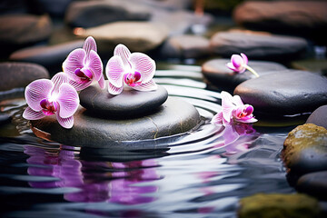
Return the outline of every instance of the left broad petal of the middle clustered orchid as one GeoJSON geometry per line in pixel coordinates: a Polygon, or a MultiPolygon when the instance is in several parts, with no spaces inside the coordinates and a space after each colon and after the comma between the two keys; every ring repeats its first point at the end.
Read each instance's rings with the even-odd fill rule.
{"type": "Polygon", "coordinates": [[[75,74],[77,68],[82,69],[84,67],[84,61],[86,52],[82,48],[76,48],[73,52],[68,54],[64,60],[63,69],[64,73],[67,74],[72,80],[80,81],[80,77],[75,74]]]}

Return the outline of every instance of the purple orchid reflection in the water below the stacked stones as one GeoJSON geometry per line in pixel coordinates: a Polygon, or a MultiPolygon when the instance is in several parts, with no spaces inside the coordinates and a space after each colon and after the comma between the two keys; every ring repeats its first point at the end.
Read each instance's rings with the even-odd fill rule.
{"type": "Polygon", "coordinates": [[[57,153],[41,147],[25,146],[26,160],[31,164],[28,173],[35,176],[52,176],[58,181],[30,182],[34,188],[75,187],[80,192],[64,193],[69,202],[108,202],[122,204],[150,203],[155,200],[144,194],[154,193],[154,185],[136,186],[136,183],[160,179],[155,172],[155,160],[139,160],[125,163],[88,162],[77,160],[74,147],[62,145],[57,153]],[[72,150],[64,150],[72,149],[72,150]]]}

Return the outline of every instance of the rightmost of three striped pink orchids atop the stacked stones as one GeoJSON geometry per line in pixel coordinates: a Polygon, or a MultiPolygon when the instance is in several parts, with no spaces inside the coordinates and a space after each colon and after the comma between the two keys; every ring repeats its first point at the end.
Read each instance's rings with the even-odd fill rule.
{"type": "Polygon", "coordinates": [[[148,55],[133,53],[125,45],[114,48],[114,56],[109,59],[105,74],[109,80],[110,94],[121,94],[124,84],[138,91],[153,91],[157,89],[153,77],[155,62],[148,55]]]}

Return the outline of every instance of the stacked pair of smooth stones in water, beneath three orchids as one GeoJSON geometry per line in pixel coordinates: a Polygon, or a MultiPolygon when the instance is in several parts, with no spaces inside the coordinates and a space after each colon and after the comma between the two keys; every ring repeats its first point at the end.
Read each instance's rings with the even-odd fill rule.
{"type": "MultiPolygon", "coordinates": [[[[119,146],[125,141],[182,134],[200,122],[200,115],[192,104],[168,98],[167,91],[160,85],[151,92],[125,89],[119,95],[91,85],[79,95],[83,107],[74,114],[72,129],[64,129],[53,115],[31,121],[35,134],[63,144],[104,148],[119,146]]],[[[144,149],[156,148],[154,143],[149,146],[144,149]]],[[[120,148],[129,149],[125,145],[120,148]]]]}

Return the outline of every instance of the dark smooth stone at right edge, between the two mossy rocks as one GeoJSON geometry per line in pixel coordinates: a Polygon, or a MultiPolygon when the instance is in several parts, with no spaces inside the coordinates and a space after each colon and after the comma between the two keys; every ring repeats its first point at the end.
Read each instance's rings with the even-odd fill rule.
{"type": "Polygon", "coordinates": [[[327,199],[327,171],[302,175],[295,188],[300,193],[308,193],[319,199],[327,199]]]}

